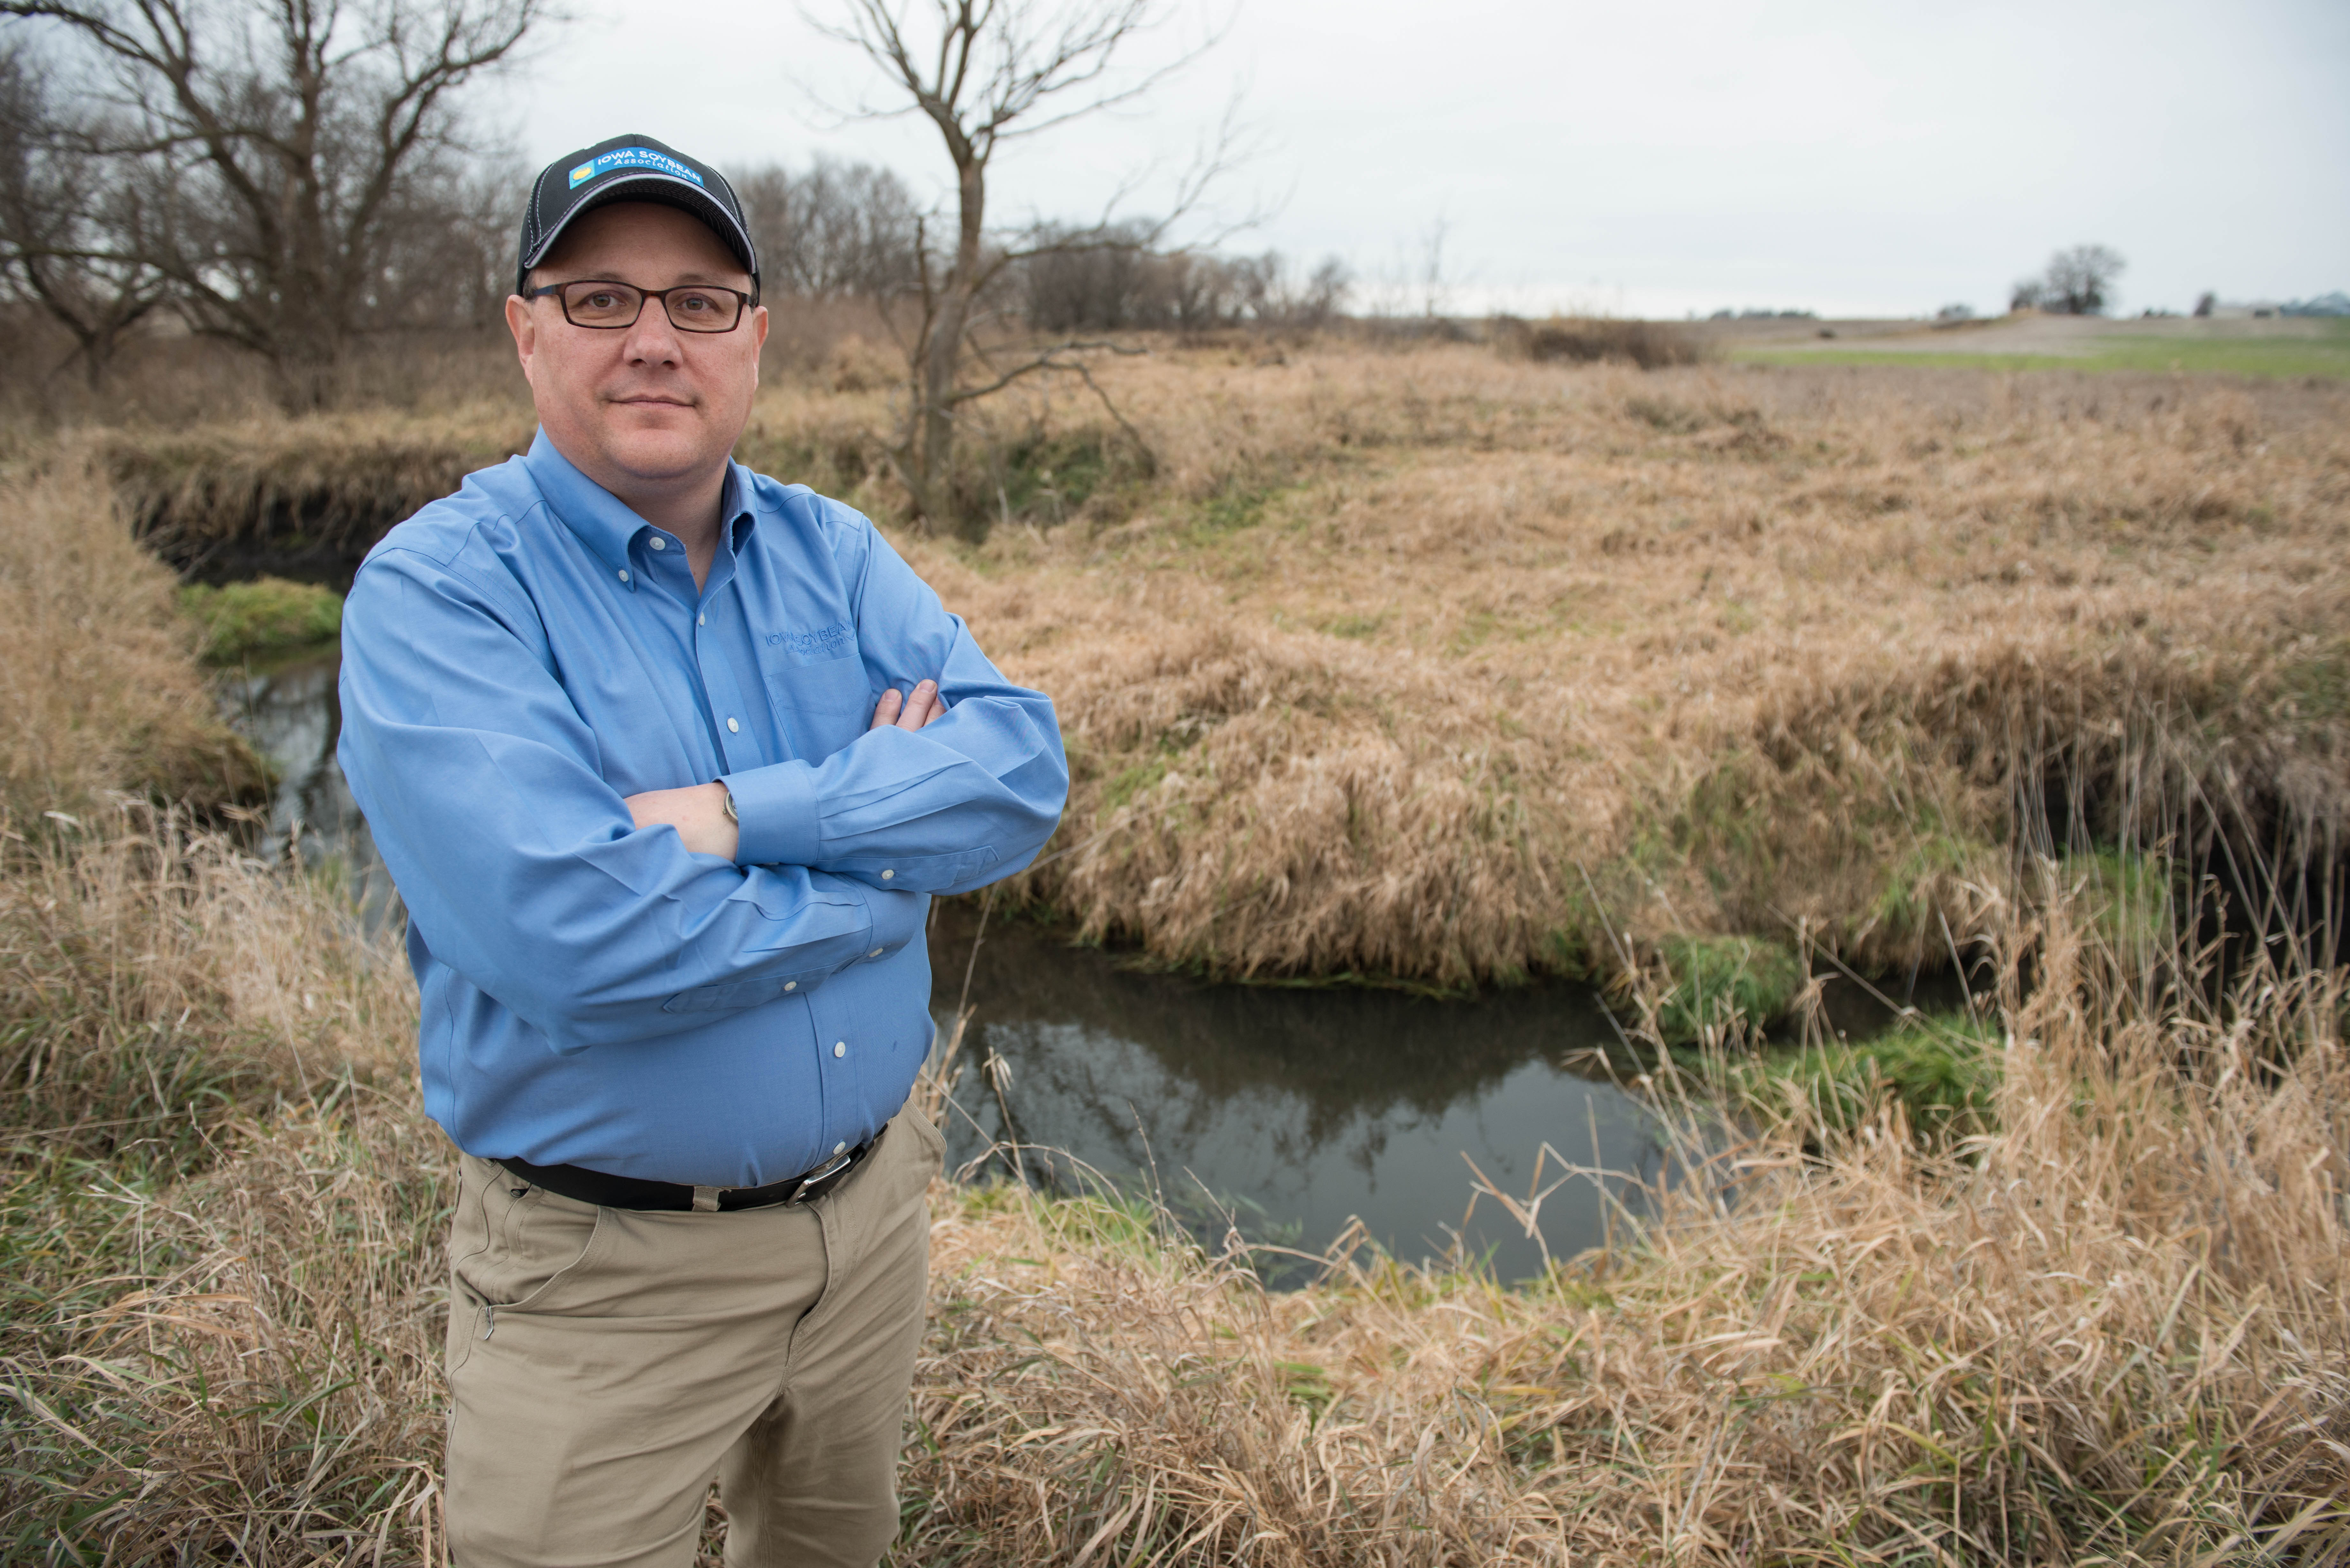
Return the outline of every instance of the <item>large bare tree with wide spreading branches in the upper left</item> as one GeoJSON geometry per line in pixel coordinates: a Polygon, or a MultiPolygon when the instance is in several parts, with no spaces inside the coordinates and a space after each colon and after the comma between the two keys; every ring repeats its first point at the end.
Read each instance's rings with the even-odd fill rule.
{"type": "Polygon", "coordinates": [[[442,247],[414,219],[470,148],[456,94],[508,59],[548,0],[0,0],[78,45],[120,122],[96,153],[139,167],[146,259],[197,331],[324,400],[350,341],[414,317],[442,247]]]}

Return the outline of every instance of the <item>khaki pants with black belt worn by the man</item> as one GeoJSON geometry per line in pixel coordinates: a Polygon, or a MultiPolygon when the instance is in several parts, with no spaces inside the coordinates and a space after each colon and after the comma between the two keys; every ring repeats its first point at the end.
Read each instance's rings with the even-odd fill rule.
{"type": "Polygon", "coordinates": [[[465,1157],[449,1227],[456,1568],[686,1568],[712,1476],[736,1568],[874,1563],[945,1143],[912,1105],[834,1192],[597,1208],[465,1157]]]}

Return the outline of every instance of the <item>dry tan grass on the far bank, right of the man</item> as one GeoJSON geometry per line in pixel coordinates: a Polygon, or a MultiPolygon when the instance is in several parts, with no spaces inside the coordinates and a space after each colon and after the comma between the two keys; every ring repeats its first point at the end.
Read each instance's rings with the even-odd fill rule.
{"type": "Polygon", "coordinates": [[[1060,703],[1065,853],[1025,886],[1093,936],[1464,983],[1607,966],[1596,896],[1633,936],[1805,922],[1908,964],[1936,917],[1967,938],[1950,889],[2049,736],[2153,715],[2251,792],[2350,799],[2338,390],[1114,374],[1161,494],[916,548],[1060,703]]]}

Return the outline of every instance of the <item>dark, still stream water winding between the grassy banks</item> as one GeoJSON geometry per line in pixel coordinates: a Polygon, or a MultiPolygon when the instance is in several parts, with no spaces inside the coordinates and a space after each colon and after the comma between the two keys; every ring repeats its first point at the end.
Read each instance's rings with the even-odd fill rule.
{"type": "MultiPolygon", "coordinates": [[[[280,769],[263,853],[341,865],[371,924],[400,903],[334,762],[336,654],[226,675],[223,705],[280,769]]],[[[1206,1244],[1227,1227],[1250,1244],[1318,1255],[1351,1225],[1405,1260],[1452,1248],[1502,1279],[1542,1272],[1605,1241],[1610,1215],[1638,1213],[1666,1168],[1654,1117],[1605,1072],[1614,1025],[1591,987],[1546,983],[1436,1001],[1391,990],[1213,985],[1147,973],[1055,933],[994,922],[973,898],[931,922],[933,1016],[942,1037],[964,1001],[949,1161],[1008,1166],[1032,1180],[1107,1180],[1154,1194],[1206,1244]],[[978,940],[978,947],[973,943],[978,940]],[[975,954],[975,957],[973,957],[975,954]],[[999,1058],[1001,1095],[985,1063],[999,1058]],[[1544,1147],[1549,1145],[1549,1154],[1544,1147]],[[1525,1197],[1572,1161],[1539,1208],[1539,1234],[1476,1175],[1525,1197]],[[1090,1173],[1090,1175],[1088,1175],[1090,1173]]],[[[1845,985],[1831,987],[1847,992],[1845,985]]],[[[1882,1020],[1838,1016],[1866,1032],[1882,1020]]],[[[1845,1013],[1849,1009],[1833,1009],[1845,1013]]],[[[1267,1272],[1311,1269],[1264,1255],[1267,1272]]]]}

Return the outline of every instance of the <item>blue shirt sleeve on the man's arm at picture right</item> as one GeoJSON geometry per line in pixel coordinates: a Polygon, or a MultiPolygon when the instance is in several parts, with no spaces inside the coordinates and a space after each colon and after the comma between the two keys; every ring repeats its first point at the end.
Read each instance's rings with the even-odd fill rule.
{"type": "Polygon", "coordinates": [[[947,712],[872,729],[820,762],[724,778],[745,865],[806,865],[867,889],[966,893],[1036,858],[1069,797],[1053,701],[1015,686],[961,616],[858,517],[858,646],[900,691],[935,679],[947,712]]]}

